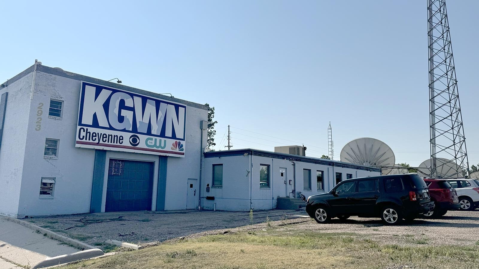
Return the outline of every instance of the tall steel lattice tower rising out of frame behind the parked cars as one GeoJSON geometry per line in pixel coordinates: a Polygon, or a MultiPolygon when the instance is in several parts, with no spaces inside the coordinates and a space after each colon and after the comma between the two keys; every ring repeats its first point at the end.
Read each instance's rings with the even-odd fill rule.
{"type": "Polygon", "coordinates": [[[468,154],[445,0],[428,0],[427,10],[431,176],[465,177],[469,170],[468,154]],[[439,157],[448,161],[436,161],[439,157]],[[443,175],[438,171],[448,172],[443,175]]]}

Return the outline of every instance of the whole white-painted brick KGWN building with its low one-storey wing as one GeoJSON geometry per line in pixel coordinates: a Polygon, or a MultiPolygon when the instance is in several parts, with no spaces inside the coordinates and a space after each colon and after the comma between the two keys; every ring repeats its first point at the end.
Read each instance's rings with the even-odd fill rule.
{"type": "Polygon", "coordinates": [[[202,158],[207,113],[202,104],[35,63],[0,85],[0,215],[181,210],[200,203],[262,210],[274,208],[278,196],[329,191],[338,175],[380,173],[252,149],[202,158]]]}

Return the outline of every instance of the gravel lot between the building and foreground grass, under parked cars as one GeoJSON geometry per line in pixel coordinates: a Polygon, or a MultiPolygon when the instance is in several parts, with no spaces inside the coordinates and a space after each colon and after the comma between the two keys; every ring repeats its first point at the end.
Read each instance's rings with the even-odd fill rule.
{"type": "Polygon", "coordinates": [[[116,239],[139,245],[156,245],[179,236],[197,237],[276,227],[279,230],[352,233],[381,244],[401,246],[478,244],[479,210],[449,211],[441,219],[416,219],[401,225],[383,225],[379,219],[357,218],[331,224],[317,224],[304,210],[247,212],[167,211],[115,212],[61,215],[33,218],[29,221],[59,234],[95,245],[116,239]],[[269,219],[270,222],[267,222],[269,219]],[[291,224],[291,225],[285,225],[291,224]],[[245,227],[239,227],[244,226],[245,227]],[[238,227],[238,228],[235,228],[238,227]]]}

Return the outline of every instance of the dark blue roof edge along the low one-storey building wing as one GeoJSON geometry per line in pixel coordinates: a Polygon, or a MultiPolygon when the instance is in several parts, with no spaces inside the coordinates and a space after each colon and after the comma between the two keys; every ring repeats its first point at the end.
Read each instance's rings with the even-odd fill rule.
{"type": "Polygon", "coordinates": [[[270,158],[285,159],[285,160],[287,159],[291,161],[301,161],[301,162],[322,164],[322,165],[335,166],[335,167],[381,172],[380,168],[371,167],[371,166],[363,166],[363,165],[345,163],[345,162],[340,162],[335,160],[321,159],[321,158],[315,158],[315,157],[305,157],[305,156],[299,156],[294,154],[286,154],[286,153],[265,151],[265,150],[252,149],[252,148],[209,151],[209,152],[205,152],[205,158],[241,156],[241,155],[244,156],[246,153],[252,156],[270,157],[270,158]]]}

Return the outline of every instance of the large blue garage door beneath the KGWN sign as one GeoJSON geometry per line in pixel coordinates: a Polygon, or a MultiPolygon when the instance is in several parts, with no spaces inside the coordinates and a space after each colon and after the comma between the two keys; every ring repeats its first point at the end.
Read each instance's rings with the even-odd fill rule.
{"type": "Polygon", "coordinates": [[[105,212],[151,210],[153,163],[110,160],[105,212]]]}

